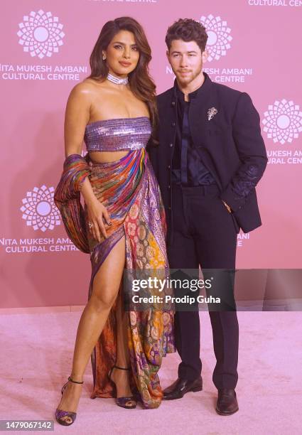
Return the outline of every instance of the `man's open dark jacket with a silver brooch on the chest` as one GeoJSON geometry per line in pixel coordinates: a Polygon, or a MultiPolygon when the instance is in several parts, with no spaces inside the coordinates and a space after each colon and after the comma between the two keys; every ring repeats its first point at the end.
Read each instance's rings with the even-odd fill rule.
{"type": "MultiPolygon", "coordinates": [[[[237,232],[261,225],[255,186],[267,164],[259,114],[246,92],[212,82],[206,74],[189,108],[190,131],[200,158],[220,188],[220,198],[232,208],[237,232]],[[217,110],[208,119],[208,110],[217,110]]],[[[171,168],[176,142],[176,82],[157,97],[158,145],[149,141],[148,151],[158,179],[171,233],[171,168]]]]}

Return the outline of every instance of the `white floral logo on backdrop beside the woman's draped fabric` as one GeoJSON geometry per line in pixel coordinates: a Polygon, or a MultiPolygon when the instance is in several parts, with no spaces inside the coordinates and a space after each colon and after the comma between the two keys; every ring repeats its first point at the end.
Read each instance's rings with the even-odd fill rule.
{"type": "Polygon", "coordinates": [[[22,219],[26,220],[26,225],[33,227],[33,230],[53,230],[55,225],[60,225],[60,213],[53,201],[55,188],[41,186],[33,188],[26,193],[26,198],[22,200],[23,213],[22,219]]]}

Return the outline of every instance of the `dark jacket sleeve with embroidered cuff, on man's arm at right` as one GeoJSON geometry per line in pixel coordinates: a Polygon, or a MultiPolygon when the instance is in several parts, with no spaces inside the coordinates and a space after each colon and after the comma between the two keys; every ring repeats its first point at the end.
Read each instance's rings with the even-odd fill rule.
{"type": "Polygon", "coordinates": [[[237,102],[232,131],[241,163],[220,198],[236,212],[244,207],[249,193],[259,182],[267,164],[260,117],[246,92],[242,92],[237,102]]]}

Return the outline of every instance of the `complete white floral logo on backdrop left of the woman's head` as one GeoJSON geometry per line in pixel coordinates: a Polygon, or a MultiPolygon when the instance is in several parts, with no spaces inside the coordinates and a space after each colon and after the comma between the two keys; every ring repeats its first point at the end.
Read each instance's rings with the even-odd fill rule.
{"type": "Polygon", "coordinates": [[[38,12],[32,11],[28,16],[23,16],[19,28],[18,43],[23,46],[23,51],[30,53],[32,57],[50,58],[53,53],[58,53],[60,45],[63,45],[63,24],[60,24],[58,16],[53,16],[51,12],[44,12],[42,9],[38,12]]]}

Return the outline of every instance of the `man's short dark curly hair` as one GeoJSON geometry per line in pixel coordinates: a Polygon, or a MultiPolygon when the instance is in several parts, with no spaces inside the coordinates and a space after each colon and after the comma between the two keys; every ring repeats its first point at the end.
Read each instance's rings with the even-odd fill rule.
{"type": "Polygon", "coordinates": [[[171,43],[175,39],[182,39],[185,42],[195,41],[203,53],[207,43],[207,33],[205,27],[198,21],[190,18],[180,18],[168,28],[165,39],[168,50],[170,50],[171,43]]]}

